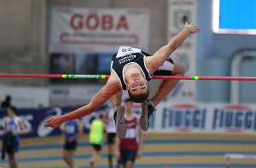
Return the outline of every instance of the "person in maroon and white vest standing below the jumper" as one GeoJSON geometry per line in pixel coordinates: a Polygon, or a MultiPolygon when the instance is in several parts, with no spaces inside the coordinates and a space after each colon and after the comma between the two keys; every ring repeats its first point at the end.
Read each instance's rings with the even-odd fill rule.
{"type": "Polygon", "coordinates": [[[130,98],[125,100],[126,137],[115,139],[116,157],[123,168],[132,168],[136,158],[140,158],[143,150],[143,132],[139,126],[138,116],[132,111],[133,102],[130,98]]]}

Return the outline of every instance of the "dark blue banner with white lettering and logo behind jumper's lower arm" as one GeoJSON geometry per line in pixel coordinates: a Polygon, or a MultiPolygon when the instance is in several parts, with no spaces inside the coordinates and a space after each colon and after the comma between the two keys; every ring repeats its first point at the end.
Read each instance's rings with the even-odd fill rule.
{"type": "MultiPolygon", "coordinates": [[[[100,113],[104,113],[107,105],[103,105],[96,112],[83,117],[80,120],[81,126],[84,129],[84,133],[90,131],[90,123],[96,119],[100,113]]],[[[57,128],[45,126],[45,120],[55,115],[64,115],[69,109],[78,109],[79,106],[67,106],[67,107],[50,107],[41,109],[18,109],[17,115],[23,120],[26,127],[26,134],[21,137],[48,137],[54,135],[61,135],[63,124],[57,128]]],[[[3,136],[4,120],[8,117],[6,109],[0,109],[0,137],[3,136]]]]}

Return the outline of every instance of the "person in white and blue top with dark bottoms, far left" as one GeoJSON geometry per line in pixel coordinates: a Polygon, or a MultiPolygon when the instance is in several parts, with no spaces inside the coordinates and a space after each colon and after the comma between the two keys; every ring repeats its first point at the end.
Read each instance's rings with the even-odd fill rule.
{"type": "Polygon", "coordinates": [[[3,135],[5,139],[5,148],[9,157],[9,167],[17,168],[17,152],[19,150],[20,134],[26,133],[23,121],[18,117],[17,109],[14,106],[8,108],[9,117],[4,120],[3,135]]]}

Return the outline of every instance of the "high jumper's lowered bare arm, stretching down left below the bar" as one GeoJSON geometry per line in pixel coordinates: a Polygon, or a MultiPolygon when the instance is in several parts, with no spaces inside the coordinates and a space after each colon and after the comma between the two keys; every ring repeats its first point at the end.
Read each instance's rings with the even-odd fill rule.
{"type": "Polygon", "coordinates": [[[90,104],[84,105],[67,115],[53,116],[49,120],[45,121],[45,125],[58,127],[67,120],[75,120],[83,117],[84,115],[90,115],[90,113],[98,109],[102,104],[108,101],[108,98],[120,90],[122,90],[122,88],[119,85],[118,79],[116,79],[116,76],[110,75],[107,84],[90,100],[90,104]]]}

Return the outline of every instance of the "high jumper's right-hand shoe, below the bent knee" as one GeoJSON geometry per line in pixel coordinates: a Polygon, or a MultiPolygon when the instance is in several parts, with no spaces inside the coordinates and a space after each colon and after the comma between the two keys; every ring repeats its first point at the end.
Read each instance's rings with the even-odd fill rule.
{"type": "Polygon", "coordinates": [[[143,131],[146,132],[148,131],[149,120],[154,114],[154,111],[156,111],[156,109],[154,109],[154,106],[153,106],[153,99],[147,99],[147,101],[143,102],[142,109],[143,109],[143,112],[140,118],[140,124],[143,131]]]}

